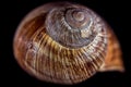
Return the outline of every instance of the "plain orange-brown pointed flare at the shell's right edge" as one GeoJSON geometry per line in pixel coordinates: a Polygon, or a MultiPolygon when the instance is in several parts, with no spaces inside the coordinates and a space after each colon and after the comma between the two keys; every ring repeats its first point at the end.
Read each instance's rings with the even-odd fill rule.
{"type": "Polygon", "coordinates": [[[119,71],[124,72],[124,66],[122,62],[122,52],[120,50],[119,41],[115,33],[108,27],[107,30],[108,36],[108,45],[107,45],[107,54],[105,58],[105,62],[102,65],[99,72],[108,72],[108,71],[119,71]]]}

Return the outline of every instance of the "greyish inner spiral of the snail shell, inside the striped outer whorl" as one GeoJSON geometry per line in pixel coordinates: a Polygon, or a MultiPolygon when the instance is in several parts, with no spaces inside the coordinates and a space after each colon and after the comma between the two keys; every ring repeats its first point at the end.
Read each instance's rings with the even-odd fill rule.
{"type": "Polygon", "coordinates": [[[56,8],[47,16],[47,33],[68,48],[81,48],[91,44],[100,29],[94,20],[93,12],[83,7],[56,8]]]}

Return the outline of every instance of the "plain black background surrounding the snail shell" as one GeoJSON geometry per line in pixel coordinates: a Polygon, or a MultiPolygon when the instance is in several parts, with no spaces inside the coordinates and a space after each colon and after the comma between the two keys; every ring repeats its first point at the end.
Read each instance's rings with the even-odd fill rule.
{"type": "MultiPolygon", "coordinates": [[[[4,0],[0,1],[0,84],[13,87],[130,87],[131,42],[129,2],[115,0],[70,0],[86,5],[98,13],[114,28],[120,41],[126,72],[97,73],[92,78],[72,86],[40,82],[25,73],[13,55],[13,37],[19,23],[33,9],[51,0],[4,0]]],[[[55,0],[53,0],[55,1],[55,0]]],[[[56,0],[59,1],[59,0],[56,0]]]]}

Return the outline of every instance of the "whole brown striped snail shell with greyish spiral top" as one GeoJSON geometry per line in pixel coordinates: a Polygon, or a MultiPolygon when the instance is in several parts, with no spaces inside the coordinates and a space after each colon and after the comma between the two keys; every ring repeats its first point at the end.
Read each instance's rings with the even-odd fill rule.
{"type": "Polygon", "coordinates": [[[91,9],[70,2],[44,4],[26,15],[13,48],[28,74],[57,84],[80,83],[99,71],[123,70],[111,28],[91,9]]]}

